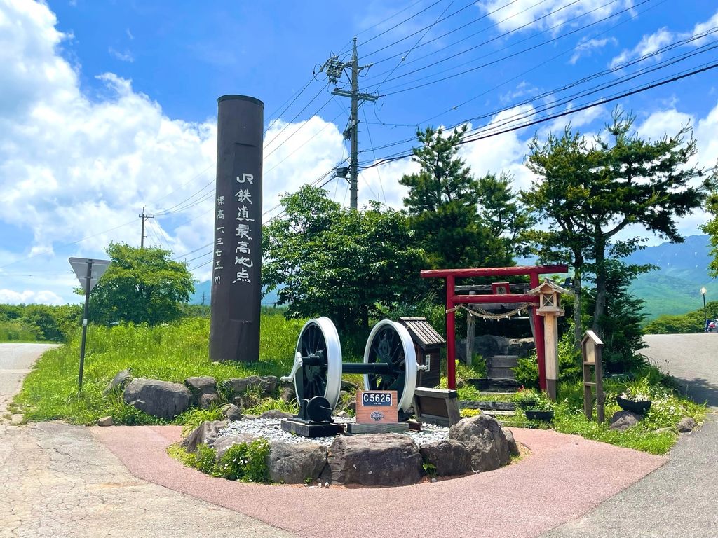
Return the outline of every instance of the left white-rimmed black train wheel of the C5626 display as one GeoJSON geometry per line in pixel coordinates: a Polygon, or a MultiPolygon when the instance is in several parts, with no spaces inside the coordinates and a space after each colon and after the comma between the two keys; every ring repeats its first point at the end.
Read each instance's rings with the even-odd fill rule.
{"type": "Polygon", "coordinates": [[[325,359],[317,366],[305,365],[294,374],[297,400],[323,396],[333,411],[342,388],[342,345],[332,320],[321,317],[307,321],[299,333],[296,351],[302,357],[320,355],[325,359]]]}

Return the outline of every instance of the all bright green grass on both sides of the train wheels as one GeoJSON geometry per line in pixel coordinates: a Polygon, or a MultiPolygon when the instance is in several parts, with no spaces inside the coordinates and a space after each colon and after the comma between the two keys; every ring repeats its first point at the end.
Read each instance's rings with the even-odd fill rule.
{"type": "MultiPolygon", "coordinates": [[[[37,361],[11,405],[14,412],[23,413],[26,421],[59,419],[76,424],[94,424],[99,417],[111,415],[116,424],[163,423],[161,419],[125,405],[121,394],[103,397],[103,390],[117,372],[129,368],[134,377],[179,383],[187,377],[202,375],[212,376],[218,382],[251,374],[286,375],[292,369],[294,348],[303,324],[304,320],[286,320],[279,313],[263,313],[259,362],[252,364],[210,362],[209,321],[205,318],[185,318],[174,324],[155,327],[90,326],[83,391],[78,392],[80,343],[75,336],[69,344],[47,351],[37,361]]],[[[356,337],[354,340],[359,342],[360,339],[356,337]]],[[[344,341],[342,339],[342,344],[344,341]]],[[[356,351],[345,352],[345,360],[357,360],[356,355],[356,351]]],[[[458,365],[458,372],[465,377],[475,377],[476,373],[461,364],[458,365]]],[[[345,376],[344,379],[361,383],[359,375],[345,376]]],[[[559,385],[559,401],[554,405],[556,415],[551,425],[528,421],[521,411],[514,417],[502,417],[501,420],[505,425],[517,427],[552,427],[562,433],[574,433],[656,454],[666,453],[675,443],[677,435],[672,428],[681,417],[691,416],[699,422],[703,420],[706,407],[679,397],[664,387],[657,369],[647,367],[643,372],[636,372],[633,379],[635,381],[605,381],[607,420],[618,410],[615,397],[623,390],[640,384],[643,392],[651,393],[651,411],[627,432],[615,432],[606,424],[598,425],[584,417],[580,382],[559,385]]],[[[468,384],[460,388],[459,397],[461,400],[495,399],[468,384]]],[[[282,402],[277,400],[276,403],[282,402]]],[[[265,407],[271,404],[263,403],[265,407]]],[[[173,422],[192,425],[217,414],[218,410],[189,410],[173,422]]]]}

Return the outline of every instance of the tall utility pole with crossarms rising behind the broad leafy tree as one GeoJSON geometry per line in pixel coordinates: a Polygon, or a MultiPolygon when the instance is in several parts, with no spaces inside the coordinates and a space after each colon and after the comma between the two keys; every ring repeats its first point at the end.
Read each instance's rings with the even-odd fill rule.
{"type": "Polygon", "coordinates": [[[358,168],[359,168],[359,101],[376,101],[379,96],[371,95],[369,93],[359,93],[359,73],[371,67],[372,64],[359,65],[359,58],[357,55],[357,38],[354,38],[354,47],[352,52],[352,59],[348,62],[341,62],[339,57],[332,56],[322,65],[322,70],[327,70],[327,77],[330,82],[336,84],[345,72],[345,69],[349,68],[350,75],[349,79],[351,82],[351,91],[340,90],[334,88],[332,95],[339,95],[340,97],[348,97],[352,100],[349,126],[344,131],[344,139],[351,138],[351,151],[349,156],[349,189],[350,189],[350,207],[351,209],[357,209],[357,197],[358,197],[358,168]]]}

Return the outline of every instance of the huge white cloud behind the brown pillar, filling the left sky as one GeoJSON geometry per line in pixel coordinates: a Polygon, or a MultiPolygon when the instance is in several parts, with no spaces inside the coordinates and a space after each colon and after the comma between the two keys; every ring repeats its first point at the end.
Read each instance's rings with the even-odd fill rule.
{"type": "MultiPolygon", "coordinates": [[[[12,225],[29,236],[22,250],[0,253],[0,268],[10,264],[18,273],[14,269],[41,263],[62,275],[67,255],[104,257],[110,241],[139,245],[143,206],[157,214],[147,232],[150,245],[162,241],[181,255],[211,243],[215,118],[169,118],[131,80],[113,73],[85,74],[104,84],[100,95],[88,98],[80,90],[81,67],[58,52],[67,36],[56,24],[47,4],[0,2],[0,233],[12,225]],[[190,202],[196,204],[162,214],[195,192],[190,202]]],[[[284,126],[277,122],[266,139],[284,126]]],[[[278,141],[284,143],[264,162],[265,210],[342,156],[337,126],[318,117],[289,126],[278,141]]],[[[195,276],[206,277],[204,269],[195,276]]],[[[8,301],[75,301],[73,285],[69,277],[4,277],[4,286],[21,294],[8,301]],[[27,296],[27,289],[54,295],[27,296]]]]}

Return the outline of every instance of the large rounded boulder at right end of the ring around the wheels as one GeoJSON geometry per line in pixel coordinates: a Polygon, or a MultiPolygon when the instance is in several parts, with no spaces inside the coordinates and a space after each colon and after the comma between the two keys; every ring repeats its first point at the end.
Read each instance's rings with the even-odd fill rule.
{"type": "Polygon", "coordinates": [[[456,439],[471,453],[474,471],[494,471],[510,461],[508,440],[498,420],[489,415],[464,418],[449,428],[449,439],[456,439]]]}

